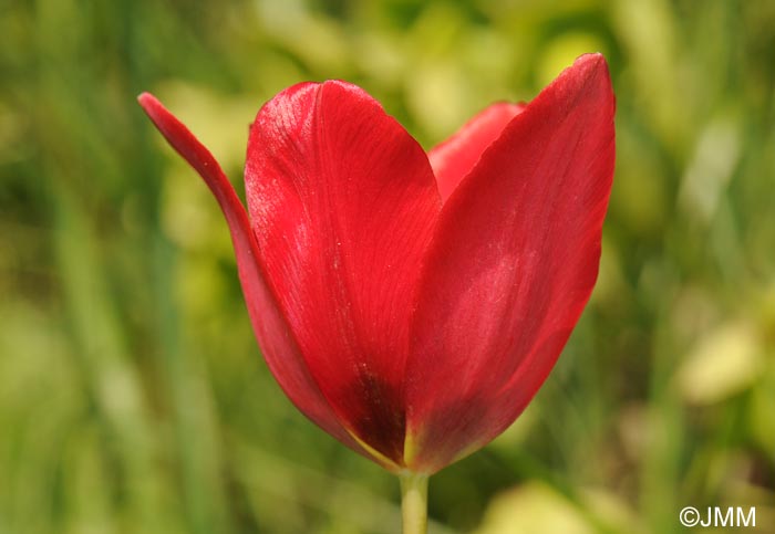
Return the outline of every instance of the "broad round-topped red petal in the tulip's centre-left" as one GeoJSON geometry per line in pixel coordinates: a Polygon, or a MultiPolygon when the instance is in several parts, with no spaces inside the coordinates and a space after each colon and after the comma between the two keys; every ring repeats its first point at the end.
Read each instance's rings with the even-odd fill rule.
{"type": "Polygon", "coordinates": [[[307,83],[258,113],[245,179],[310,373],[359,442],[402,464],[411,295],[441,209],[427,157],[363,90],[307,83]]]}

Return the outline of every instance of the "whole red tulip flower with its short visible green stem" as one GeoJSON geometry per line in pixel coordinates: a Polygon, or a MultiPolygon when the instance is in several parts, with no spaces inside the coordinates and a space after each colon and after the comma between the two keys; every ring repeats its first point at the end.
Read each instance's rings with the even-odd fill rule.
{"type": "Polygon", "coordinates": [[[614,157],[606,61],[580,56],[428,153],[363,90],[294,85],[250,126],[247,211],[194,135],[138,100],[220,205],[272,375],[401,477],[405,532],[424,532],[427,477],[519,416],[595,285],[614,157]]]}

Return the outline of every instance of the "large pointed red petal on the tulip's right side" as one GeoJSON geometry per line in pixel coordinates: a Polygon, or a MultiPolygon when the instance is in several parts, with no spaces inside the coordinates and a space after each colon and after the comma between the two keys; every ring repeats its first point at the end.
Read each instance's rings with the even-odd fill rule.
{"type": "Polygon", "coordinates": [[[604,60],[579,57],[444,205],[411,328],[410,469],[483,447],[551,370],[597,279],[613,113],[604,60]]]}

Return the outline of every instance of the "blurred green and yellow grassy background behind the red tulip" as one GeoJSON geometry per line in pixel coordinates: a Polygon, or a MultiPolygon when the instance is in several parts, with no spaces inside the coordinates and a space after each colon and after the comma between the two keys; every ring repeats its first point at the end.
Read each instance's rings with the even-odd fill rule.
{"type": "Polygon", "coordinates": [[[618,97],[600,280],[525,415],[432,479],[432,532],[679,532],[685,505],[775,532],[775,2],[3,0],[0,534],[399,530],[393,477],[268,373],[138,93],[241,193],[288,85],[358,83],[430,147],[590,51],[618,97]]]}

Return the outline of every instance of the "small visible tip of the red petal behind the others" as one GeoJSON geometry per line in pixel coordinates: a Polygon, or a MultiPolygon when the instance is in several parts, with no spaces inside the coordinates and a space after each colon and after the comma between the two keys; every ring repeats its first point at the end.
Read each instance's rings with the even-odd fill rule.
{"type": "Polygon", "coordinates": [[[444,202],[461,180],[471,172],[485,148],[498,138],[506,125],[524,108],[521,104],[493,104],[468,121],[452,137],[431,149],[427,157],[444,202]]]}

